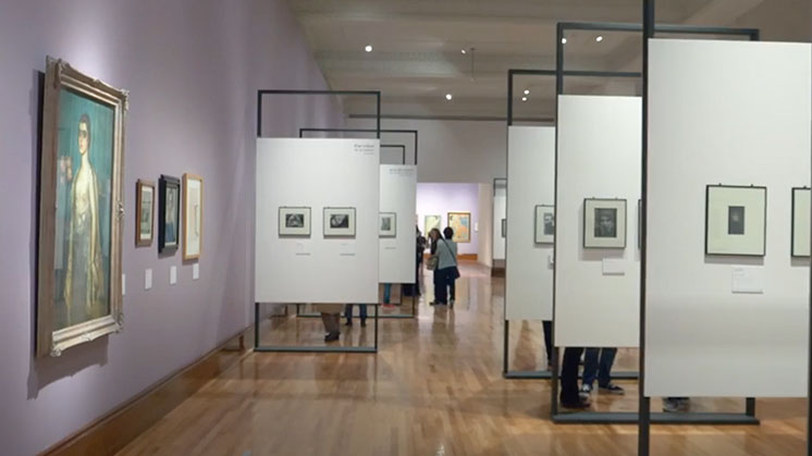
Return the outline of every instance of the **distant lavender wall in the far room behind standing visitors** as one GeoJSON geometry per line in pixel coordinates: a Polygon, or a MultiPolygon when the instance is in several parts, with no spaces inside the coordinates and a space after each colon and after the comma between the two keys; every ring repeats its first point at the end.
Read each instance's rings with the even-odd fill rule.
{"type": "Polygon", "coordinates": [[[417,184],[417,220],[420,231],[425,230],[426,215],[442,215],[442,229],[448,225],[448,212],[471,213],[471,242],[459,244],[457,248],[459,254],[479,254],[480,233],[477,233],[473,230],[475,224],[479,222],[481,232],[483,223],[479,218],[479,185],[443,183],[417,184]]]}

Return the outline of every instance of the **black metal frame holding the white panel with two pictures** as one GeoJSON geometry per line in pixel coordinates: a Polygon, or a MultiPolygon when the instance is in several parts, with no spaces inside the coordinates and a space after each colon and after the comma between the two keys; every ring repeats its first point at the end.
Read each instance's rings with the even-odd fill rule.
{"type": "MultiPolygon", "coordinates": [[[[262,137],[262,97],[264,96],[276,96],[276,95],[317,95],[317,96],[340,96],[340,95],[356,95],[376,97],[376,128],[368,130],[369,133],[374,133],[376,138],[381,138],[381,93],[380,90],[299,90],[299,89],[260,89],[257,90],[257,138],[262,137]]],[[[310,128],[316,130],[316,128],[310,128]]],[[[336,128],[319,128],[323,131],[334,131],[336,128]]],[[[303,128],[299,130],[299,137],[302,137],[303,128]]],[[[297,353],[378,353],[378,320],[379,309],[378,303],[355,303],[366,304],[368,306],[374,306],[374,347],[344,347],[344,346],[260,346],[259,345],[259,306],[263,303],[254,303],[254,350],[255,352],[297,352],[297,353]]],[[[286,303],[267,303],[275,305],[285,305],[286,303]]],[[[293,303],[291,303],[293,304],[293,303]]],[[[295,304],[298,310],[299,304],[295,304]]],[[[287,310],[285,310],[287,313],[287,310]]],[[[298,311],[297,311],[298,315],[298,311]]],[[[309,317],[318,317],[318,313],[310,315],[309,317]]]]}

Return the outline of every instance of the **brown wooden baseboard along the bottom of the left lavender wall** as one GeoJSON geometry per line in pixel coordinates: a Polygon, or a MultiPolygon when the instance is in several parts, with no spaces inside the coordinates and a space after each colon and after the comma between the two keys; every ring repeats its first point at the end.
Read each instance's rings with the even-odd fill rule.
{"type": "Polygon", "coordinates": [[[46,449],[47,456],[112,455],[157,423],[202,385],[234,366],[249,352],[244,341],[254,325],[229,337],[197,361],[180,369],[111,412],[46,449]],[[229,348],[239,344],[239,348],[229,348]]]}

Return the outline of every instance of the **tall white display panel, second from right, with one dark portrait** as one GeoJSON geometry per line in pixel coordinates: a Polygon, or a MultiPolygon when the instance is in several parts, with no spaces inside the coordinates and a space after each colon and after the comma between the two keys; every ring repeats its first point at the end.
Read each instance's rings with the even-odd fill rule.
{"type": "Polygon", "coordinates": [[[640,345],[641,112],[639,97],[558,97],[556,346],[640,345]],[[583,247],[586,198],[626,200],[626,247],[583,247]]]}

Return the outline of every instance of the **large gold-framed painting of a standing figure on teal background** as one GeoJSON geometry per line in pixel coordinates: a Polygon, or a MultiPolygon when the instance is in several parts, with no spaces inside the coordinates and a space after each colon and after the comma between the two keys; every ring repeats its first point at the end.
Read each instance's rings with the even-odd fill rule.
{"type": "Polygon", "coordinates": [[[36,354],[121,330],[127,93],[48,58],[42,106],[36,354]]]}

